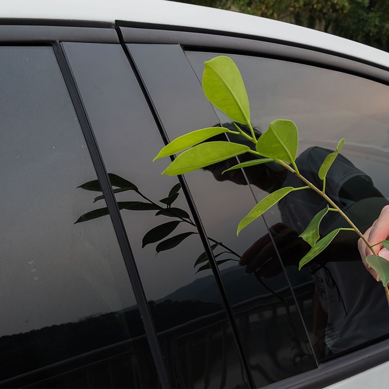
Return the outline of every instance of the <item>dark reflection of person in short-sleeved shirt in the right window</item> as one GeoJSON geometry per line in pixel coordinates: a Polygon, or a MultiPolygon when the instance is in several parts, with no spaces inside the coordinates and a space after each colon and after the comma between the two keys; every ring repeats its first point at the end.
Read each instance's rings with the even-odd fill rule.
{"type": "MultiPolygon", "coordinates": [[[[331,152],[322,147],[311,147],[296,159],[302,176],[318,188],[322,185],[318,170],[331,152]]],[[[240,162],[253,158],[252,155],[239,157],[240,162]]],[[[245,185],[246,179],[239,170],[221,175],[234,164],[236,159],[219,162],[207,170],[218,180],[228,179],[245,185]]],[[[245,174],[252,185],[268,193],[286,186],[304,185],[300,178],[280,169],[275,162],[245,168],[245,174]]],[[[388,204],[387,199],[374,187],[371,178],[342,155],[337,156],[328,172],[326,193],[362,230],[366,230],[382,207],[388,204]]],[[[326,201],[312,190],[292,192],[279,202],[283,223],[272,226],[270,232],[284,266],[298,265],[309,250],[310,247],[299,238],[299,234],[325,206],[326,201]]],[[[338,227],[349,226],[336,212],[330,212],[322,220],[320,234],[323,236],[338,227]]],[[[383,324],[389,319],[388,309],[385,310],[385,295],[382,287],[371,280],[360,262],[357,240],[355,233],[340,231],[333,243],[310,264],[316,292],[327,316],[321,328],[318,328],[325,336],[327,354],[350,349],[387,333],[383,324]],[[375,326],[374,329],[372,326],[375,326]],[[366,331],[366,327],[371,331],[366,331]]],[[[245,266],[247,273],[255,272],[264,277],[272,277],[282,271],[269,235],[248,248],[240,264],[245,266]]]]}

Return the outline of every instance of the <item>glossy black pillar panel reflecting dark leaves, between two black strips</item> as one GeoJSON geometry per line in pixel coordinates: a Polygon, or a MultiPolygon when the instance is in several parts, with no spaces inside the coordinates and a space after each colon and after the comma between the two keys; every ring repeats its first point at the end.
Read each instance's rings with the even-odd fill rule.
{"type": "Polygon", "coordinates": [[[165,162],[152,162],[163,142],[122,48],[79,43],[64,47],[107,171],[137,186],[137,191],[116,196],[119,204],[142,203],[121,214],[172,386],[246,387],[212,272],[197,273],[194,267],[204,248],[177,177],[161,177],[165,162]],[[178,196],[171,196],[166,209],[175,186],[178,196]],[[160,210],[165,215],[157,215],[160,210]],[[170,224],[154,242],[144,245],[146,233],[165,223],[170,224]],[[177,246],[178,241],[170,241],[157,254],[161,242],[185,233],[191,234],[181,235],[186,239],[177,246]]]}

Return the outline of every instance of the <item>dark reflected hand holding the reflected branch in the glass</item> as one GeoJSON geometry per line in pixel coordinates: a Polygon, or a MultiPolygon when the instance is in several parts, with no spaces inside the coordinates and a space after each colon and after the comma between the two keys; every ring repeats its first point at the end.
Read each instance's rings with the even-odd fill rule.
{"type": "MultiPolygon", "coordinates": [[[[298,265],[310,246],[299,238],[299,234],[295,230],[283,223],[277,223],[270,227],[270,231],[283,259],[283,265],[298,265]]],[[[246,273],[256,272],[265,278],[274,277],[282,271],[282,265],[268,233],[248,248],[242,255],[239,265],[246,266],[246,273]]]]}

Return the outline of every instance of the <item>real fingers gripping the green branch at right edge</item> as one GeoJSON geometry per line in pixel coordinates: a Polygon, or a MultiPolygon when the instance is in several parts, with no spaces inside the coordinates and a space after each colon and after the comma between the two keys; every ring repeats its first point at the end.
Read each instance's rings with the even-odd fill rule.
{"type": "MultiPolygon", "coordinates": [[[[372,226],[364,233],[365,238],[371,245],[374,245],[383,240],[387,240],[389,237],[389,205],[385,206],[378,219],[374,221],[372,226]]],[[[376,281],[379,281],[379,277],[374,269],[372,269],[366,262],[365,258],[371,255],[370,248],[362,240],[358,240],[358,249],[361,254],[362,262],[365,265],[369,273],[374,277],[376,281]]],[[[374,246],[375,253],[389,261],[389,251],[381,245],[374,246]]]]}

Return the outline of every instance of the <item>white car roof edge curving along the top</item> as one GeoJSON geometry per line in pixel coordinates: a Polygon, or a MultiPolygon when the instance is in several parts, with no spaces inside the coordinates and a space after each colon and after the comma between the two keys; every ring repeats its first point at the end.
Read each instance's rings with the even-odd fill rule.
{"type": "Polygon", "coordinates": [[[0,18],[144,22],[251,35],[339,53],[389,68],[389,53],[276,20],[167,0],[12,0],[0,18]]]}

